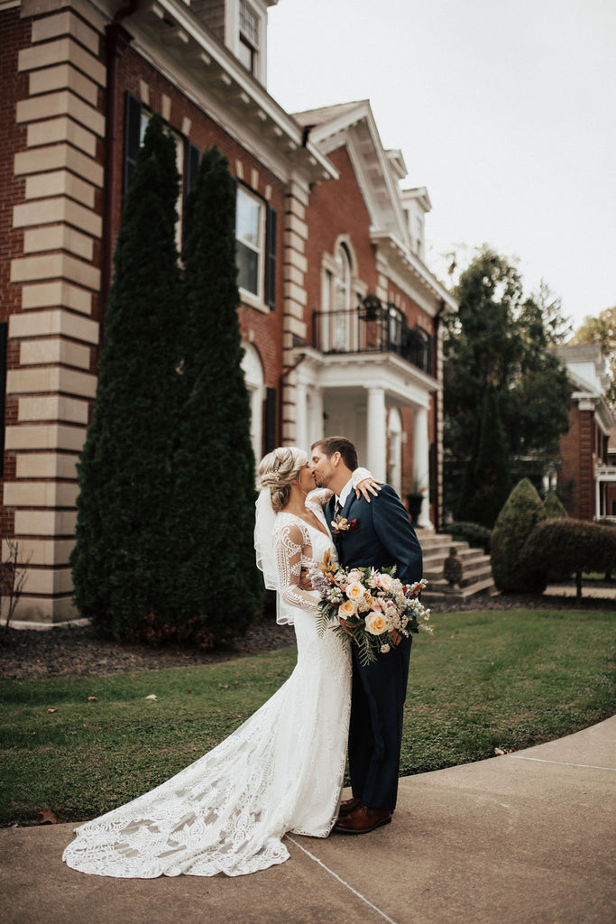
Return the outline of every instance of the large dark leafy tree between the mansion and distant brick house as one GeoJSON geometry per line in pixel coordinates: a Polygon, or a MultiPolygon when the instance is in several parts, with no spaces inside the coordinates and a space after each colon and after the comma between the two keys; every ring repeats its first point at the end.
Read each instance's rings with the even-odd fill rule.
{"type": "Polygon", "coordinates": [[[478,488],[483,396],[489,389],[498,395],[510,465],[529,458],[546,465],[569,428],[571,384],[550,351],[562,337],[562,319],[558,299],[549,298],[545,286],[537,298],[526,298],[512,263],[484,248],[460,275],[455,292],[460,307],[445,322],[443,345],[443,443],[445,506],[461,515],[461,494],[468,499],[478,488]],[[469,445],[472,465],[466,466],[463,486],[456,471],[468,461],[469,445]]]}

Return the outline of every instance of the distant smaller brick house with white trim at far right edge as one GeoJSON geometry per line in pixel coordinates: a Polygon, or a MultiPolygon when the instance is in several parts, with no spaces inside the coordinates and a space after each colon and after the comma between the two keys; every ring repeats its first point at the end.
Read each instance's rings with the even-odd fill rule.
{"type": "Polygon", "coordinates": [[[565,505],[577,519],[616,517],[616,420],[606,402],[605,357],[597,345],[558,346],[555,352],[574,388],[558,475],[565,505]]]}

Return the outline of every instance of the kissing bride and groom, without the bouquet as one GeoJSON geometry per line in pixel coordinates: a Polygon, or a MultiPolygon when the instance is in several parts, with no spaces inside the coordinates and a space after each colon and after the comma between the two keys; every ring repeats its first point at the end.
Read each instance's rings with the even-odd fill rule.
{"type": "Polygon", "coordinates": [[[255,549],[277,622],[293,625],[292,675],[247,722],[185,770],[76,829],[63,859],[99,876],[242,876],[289,857],[285,833],[361,834],[392,821],[411,638],[362,665],[356,645],[317,628],[308,571],[396,565],[421,578],[421,548],[405,506],[358,468],[342,436],[311,457],[274,449],[259,466],[255,549]],[[353,524],[353,529],[348,528],[353,524]],[[338,526],[347,529],[338,529],[338,526]],[[348,748],[353,796],[341,803],[348,748]]]}

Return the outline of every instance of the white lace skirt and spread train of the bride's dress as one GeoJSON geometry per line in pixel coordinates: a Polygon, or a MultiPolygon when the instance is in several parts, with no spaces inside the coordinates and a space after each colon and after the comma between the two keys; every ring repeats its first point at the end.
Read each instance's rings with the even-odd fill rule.
{"type": "MultiPolygon", "coordinates": [[[[324,537],[323,537],[324,538],[324,537]]],[[[284,833],[327,837],[344,780],[350,652],[296,609],[297,664],[271,699],[172,779],[76,830],[63,859],[99,876],[242,876],[283,863],[284,833]]]]}

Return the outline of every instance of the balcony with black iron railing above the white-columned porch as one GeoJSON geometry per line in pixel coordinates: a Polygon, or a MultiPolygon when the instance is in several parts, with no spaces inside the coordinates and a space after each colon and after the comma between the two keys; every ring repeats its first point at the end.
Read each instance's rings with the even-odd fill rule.
{"type": "Polygon", "coordinates": [[[394,353],[434,375],[433,337],[418,326],[409,327],[403,311],[375,296],[355,310],[314,311],[312,346],[327,355],[394,353]]]}

